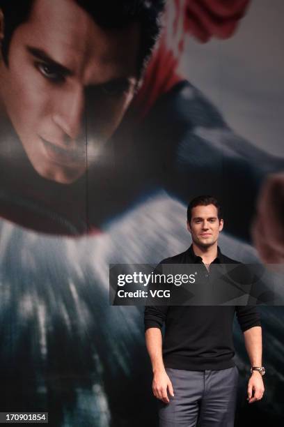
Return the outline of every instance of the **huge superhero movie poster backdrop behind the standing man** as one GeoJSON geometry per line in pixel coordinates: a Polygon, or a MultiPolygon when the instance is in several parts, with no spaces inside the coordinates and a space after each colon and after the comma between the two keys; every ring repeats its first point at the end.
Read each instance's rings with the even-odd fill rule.
{"type": "MultiPolygon", "coordinates": [[[[284,4],[168,1],[142,73],[162,3],[0,1],[1,412],[157,425],[143,310],[109,305],[109,264],[185,250],[191,197],[219,198],[226,255],[283,263],[284,4]]],[[[283,308],[260,312],[253,405],[234,325],[236,426],[283,425],[283,308]]]]}

